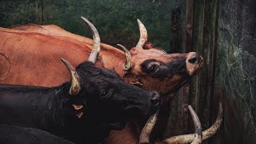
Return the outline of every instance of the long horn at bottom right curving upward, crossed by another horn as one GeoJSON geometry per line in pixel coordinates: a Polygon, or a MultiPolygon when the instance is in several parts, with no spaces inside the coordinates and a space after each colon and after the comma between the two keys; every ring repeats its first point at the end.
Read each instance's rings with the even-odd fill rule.
{"type": "MultiPolygon", "coordinates": [[[[218,117],[216,118],[214,124],[210,126],[209,129],[204,130],[202,132],[202,140],[206,140],[207,138],[212,137],[218,130],[218,128],[222,125],[222,116],[223,116],[223,109],[222,103],[219,103],[218,108],[218,117]]],[[[174,137],[167,138],[165,142],[167,143],[190,143],[194,140],[194,134],[185,134],[185,135],[178,135],[174,137]]]]}

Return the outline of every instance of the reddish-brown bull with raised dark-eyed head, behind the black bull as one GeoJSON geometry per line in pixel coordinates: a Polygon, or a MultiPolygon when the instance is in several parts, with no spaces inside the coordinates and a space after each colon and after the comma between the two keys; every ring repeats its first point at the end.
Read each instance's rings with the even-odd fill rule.
{"type": "MultiPolygon", "coordinates": [[[[122,50],[101,44],[98,66],[115,70],[126,82],[161,94],[178,90],[201,69],[202,57],[199,54],[166,54],[145,45],[146,28],[140,21],[138,24],[141,38],[137,46],[130,53],[126,51],[125,57],[122,50]]],[[[15,26],[12,30],[0,28],[0,38],[0,83],[20,85],[58,86],[66,82],[70,75],[62,72],[66,68],[59,59],[65,58],[73,66],[78,66],[89,57],[93,46],[90,38],[53,25],[15,26]]],[[[136,131],[134,124],[129,123],[126,129],[114,132],[125,134],[127,141],[120,134],[110,134],[109,142],[118,143],[117,138],[122,138],[122,142],[138,142],[136,131]]]]}

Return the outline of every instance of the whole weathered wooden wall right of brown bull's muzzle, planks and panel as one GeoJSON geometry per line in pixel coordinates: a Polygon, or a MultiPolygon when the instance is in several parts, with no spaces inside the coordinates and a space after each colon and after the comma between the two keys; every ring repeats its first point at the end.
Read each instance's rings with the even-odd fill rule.
{"type": "MultiPolygon", "coordinates": [[[[256,143],[255,7],[256,2],[249,0],[194,1],[192,50],[203,55],[205,66],[190,84],[189,103],[198,113],[203,129],[214,122],[218,102],[224,106],[222,127],[204,143],[256,143]]],[[[182,97],[174,99],[173,106],[181,106],[182,97]]],[[[170,118],[170,122],[182,122],[182,114],[179,111],[171,115],[176,119],[170,118]]],[[[188,118],[186,133],[194,130],[188,118]]],[[[170,134],[179,134],[180,130],[174,129],[170,134]]]]}

